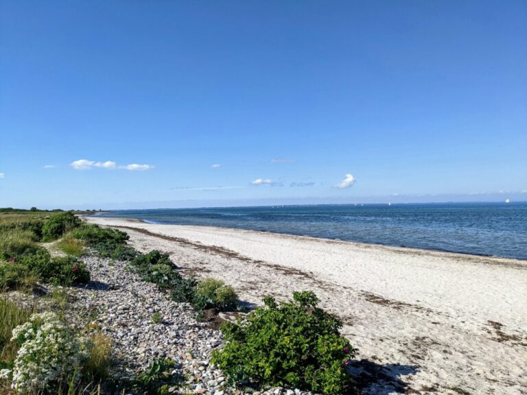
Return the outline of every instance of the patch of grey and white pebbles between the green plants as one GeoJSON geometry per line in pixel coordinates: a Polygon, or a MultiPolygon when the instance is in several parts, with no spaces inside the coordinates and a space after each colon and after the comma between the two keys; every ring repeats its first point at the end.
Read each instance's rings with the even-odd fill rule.
{"type": "Polygon", "coordinates": [[[156,285],[141,280],[126,262],[95,256],[83,261],[91,282],[74,289],[69,311],[89,317],[89,326],[113,339],[113,374],[118,381],[132,381],[153,359],[166,357],[176,362],[172,374],[183,377],[180,385],[169,388],[174,394],[312,394],[281,387],[265,391],[230,387],[222,371],[211,364],[211,352],[222,345],[222,333],[196,320],[189,304],[173,302],[156,285]],[[161,315],[161,322],[152,322],[155,313],[161,315]]]}

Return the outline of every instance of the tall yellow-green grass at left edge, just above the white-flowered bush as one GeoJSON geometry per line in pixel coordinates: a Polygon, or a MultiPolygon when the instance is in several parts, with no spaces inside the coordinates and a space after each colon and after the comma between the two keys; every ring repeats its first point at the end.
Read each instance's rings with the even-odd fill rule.
{"type": "Polygon", "coordinates": [[[10,363],[16,357],[18,346],[11,342],[16,326],[29,320],[31,311],[21,309],[14,302],[0,298],[0,365],[10,363]]]}

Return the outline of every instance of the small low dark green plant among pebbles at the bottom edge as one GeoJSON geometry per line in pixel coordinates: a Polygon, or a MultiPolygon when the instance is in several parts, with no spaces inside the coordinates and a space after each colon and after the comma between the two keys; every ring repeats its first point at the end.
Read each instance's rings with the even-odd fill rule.
{"type": "Polygon", "coordinates": [[[137,375],[133,389],[139,394],[165,395],[168,387],[180,383],[183,376],[173,374],[176,363],[171,359],[154,359],[150,366],[137,375]]]}

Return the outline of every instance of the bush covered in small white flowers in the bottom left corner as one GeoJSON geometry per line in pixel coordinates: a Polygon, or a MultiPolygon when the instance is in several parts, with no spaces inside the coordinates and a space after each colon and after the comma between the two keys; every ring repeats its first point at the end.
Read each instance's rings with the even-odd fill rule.
{"type": "Polygon", "coordinates": [[[23,393],[50,390],[65,379],[87,357],[89,344],[75,336],[55,313],[33,314],[13,329],[12,340],[21,345],[14,360],[12,387],[23,393]]]}

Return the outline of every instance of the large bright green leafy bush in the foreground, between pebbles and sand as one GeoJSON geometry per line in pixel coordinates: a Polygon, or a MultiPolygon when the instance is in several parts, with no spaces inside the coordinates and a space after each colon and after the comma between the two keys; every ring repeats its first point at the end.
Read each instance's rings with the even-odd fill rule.
{"type": "Polygon", "coordinates": [[[293,299],[278,305],[264,298],[265,307],[246,321],[222,324],[226,345],[213,352],[213,363],[235,383],[349,393],[346,368],[356,350],[340,335],[342,322],[317,307],[313,292],[295,292],[293,299]]]}

